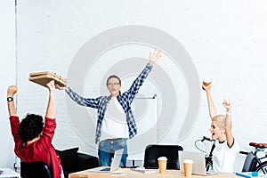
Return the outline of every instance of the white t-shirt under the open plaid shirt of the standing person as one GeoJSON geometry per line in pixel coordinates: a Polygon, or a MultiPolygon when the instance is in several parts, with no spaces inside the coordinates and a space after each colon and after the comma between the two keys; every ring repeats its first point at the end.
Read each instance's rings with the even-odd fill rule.
{"type": "Polygon", "coordinates": [[[129,130],[125,111],[117,101],[117,97],[111,97],[102,121],[100,140],[128,137],[129,130]]]}

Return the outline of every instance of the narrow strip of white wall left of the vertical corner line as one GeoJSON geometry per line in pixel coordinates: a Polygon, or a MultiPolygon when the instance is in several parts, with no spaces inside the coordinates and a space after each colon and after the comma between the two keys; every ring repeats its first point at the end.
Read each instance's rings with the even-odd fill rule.
{"type": "Polygon", "coordinates": [[[6,106],[8,85],[16,85],[15,60],[15,2],[1,1],[0,5],[0,167],[12,167],[14,163],[13,141],[6,106]]]}

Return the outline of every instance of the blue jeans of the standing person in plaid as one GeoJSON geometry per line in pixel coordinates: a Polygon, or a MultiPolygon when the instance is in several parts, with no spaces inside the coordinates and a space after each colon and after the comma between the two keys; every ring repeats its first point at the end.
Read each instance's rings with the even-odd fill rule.
{"type": "Polygon", "coordinates": [[[99,166],[110,166],[111,159],[114,157],[115,150],[124,149],[119,166],[125,167],[128,157],[127,153],[127,139],[107,139],[99,142],[98,158],[99,166]]]}

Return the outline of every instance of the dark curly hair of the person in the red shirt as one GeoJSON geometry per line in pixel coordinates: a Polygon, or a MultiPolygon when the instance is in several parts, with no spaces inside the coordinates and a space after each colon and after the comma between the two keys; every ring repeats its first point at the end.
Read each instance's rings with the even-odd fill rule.
{"type": "Polygon", "coordinates": [[[31,141],[42,133],[43,128],[43,117],[36,114],[27,114],[20,122],[20,138],[23,142],[31,141]]]}

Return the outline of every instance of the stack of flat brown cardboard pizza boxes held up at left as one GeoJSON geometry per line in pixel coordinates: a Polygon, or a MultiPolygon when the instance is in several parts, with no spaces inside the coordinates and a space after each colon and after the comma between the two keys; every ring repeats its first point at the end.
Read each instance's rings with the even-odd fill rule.
{"type": "Polygon", "coordinates": [[[44,87],[46,87],[46,84],[51,80],[54,80],[54,83],[61,87],[67,85],[67,80],[65,78],[50,71],[30,73],[28,80],[38,85],[43,85],[44,87]]]}

